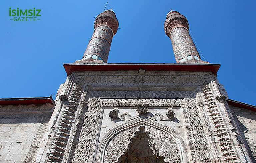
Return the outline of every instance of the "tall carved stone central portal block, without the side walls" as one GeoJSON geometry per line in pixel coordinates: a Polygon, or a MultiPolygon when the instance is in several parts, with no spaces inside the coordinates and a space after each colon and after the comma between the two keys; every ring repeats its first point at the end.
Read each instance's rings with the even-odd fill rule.
{"type": "Polygon", "coordinates": [[[120,162],[144,126],[164,162],[253,162],[220,88],[211,72],[73,72],[59,90],[67,101],[56,103],[58,120],[34,161],[120,162]],[[139,114],[138,104],[148,111],[139,114]]]}

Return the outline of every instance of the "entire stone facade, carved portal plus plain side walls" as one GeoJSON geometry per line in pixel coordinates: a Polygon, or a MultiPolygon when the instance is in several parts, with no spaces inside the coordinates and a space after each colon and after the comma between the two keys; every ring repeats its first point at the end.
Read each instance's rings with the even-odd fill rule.
{"type": "Polygon", "coordinates": [[[73,72],[54,110],[0,107],[0,162],[119,163],[144,143],[149,162],[254,163],[255,112],[225,93],[211,72],[73,72]]]}

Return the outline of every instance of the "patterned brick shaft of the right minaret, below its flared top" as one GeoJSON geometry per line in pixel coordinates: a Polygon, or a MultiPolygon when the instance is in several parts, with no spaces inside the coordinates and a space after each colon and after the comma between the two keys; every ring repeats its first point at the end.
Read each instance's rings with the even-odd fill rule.
{"type": "Polygon", "coordinates": [[[189,55],[197,56],[201,60],[201,57],[187,29],[183,27],[175,28],[170,33],[170,39],[172,41],[176,63],[180,63],[182,58],[186,58],[189,55]]]}

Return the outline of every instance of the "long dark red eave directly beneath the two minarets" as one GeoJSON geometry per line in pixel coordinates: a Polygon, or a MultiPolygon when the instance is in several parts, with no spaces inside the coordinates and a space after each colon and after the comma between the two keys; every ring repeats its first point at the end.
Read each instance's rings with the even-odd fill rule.
{"type": "Polygon", "coordinates": [[[63,64],[67,75],[73,71],[118,71],[139,70],[146,71],[211,71],[217,76],[220,64],[152,64],[152,63],[103,63],[103,64],[63,64]]]}

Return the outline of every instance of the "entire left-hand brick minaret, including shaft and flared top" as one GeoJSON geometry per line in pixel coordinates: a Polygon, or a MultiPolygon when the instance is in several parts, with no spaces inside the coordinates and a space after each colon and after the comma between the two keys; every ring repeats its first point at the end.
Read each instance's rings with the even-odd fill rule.
{"type": "Polygon", "coordinates": [[[118,29],[118,20],[113,10],[105,10],[99,14],[94,22],[94,33],[84,52],[82,60],[78,62],[106,63],[113,36],[118,29]]]}

